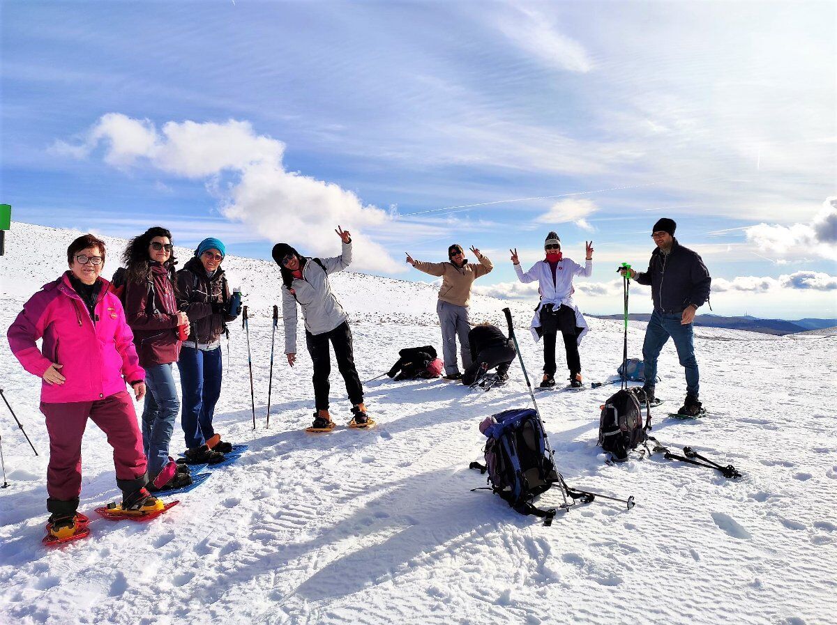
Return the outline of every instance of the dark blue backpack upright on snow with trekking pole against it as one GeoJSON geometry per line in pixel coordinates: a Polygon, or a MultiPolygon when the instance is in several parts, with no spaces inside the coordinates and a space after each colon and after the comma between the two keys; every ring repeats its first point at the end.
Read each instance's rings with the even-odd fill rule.
{"type": "Polygon", "coordinates": [[[496,495],[523,515],[535,515],[552,522],[555,510],[541,510],[532,504],[537,495],[559,482],[552,460],[552,448],[541,419],[533,409],[511,409],[495,414],[480,424],[485,443],[488,483],[496,495]]]}

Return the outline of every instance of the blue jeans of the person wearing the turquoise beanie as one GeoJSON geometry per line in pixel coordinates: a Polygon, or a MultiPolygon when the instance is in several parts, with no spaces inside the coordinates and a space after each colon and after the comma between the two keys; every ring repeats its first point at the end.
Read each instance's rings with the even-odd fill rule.
{"type": "Polygon", "coordinates": [[[221,348],[180,350],[177,361],[183,391],[181,423],[187,449],[205,444],[215,435],[212,418],[221,396],[221,348]]]}

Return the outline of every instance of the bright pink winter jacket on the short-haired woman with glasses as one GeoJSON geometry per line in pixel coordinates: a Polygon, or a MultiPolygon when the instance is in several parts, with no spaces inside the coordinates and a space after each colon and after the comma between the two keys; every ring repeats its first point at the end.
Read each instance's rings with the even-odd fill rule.
{"type": "Polygon", "coordinates": [[[59,369],[64,384],[43,383],[44,403],[97,401],[124,391],[126,381],[146,377],[122,304],[108,291],[110,283],[99,279],[95,324],[67,272],[30,297],[8,328],[12,353],[29,373],[40,378],[51,363],[64,365],[59,369]],[[44,338],[40,350],[39,338],[44,338]]]}

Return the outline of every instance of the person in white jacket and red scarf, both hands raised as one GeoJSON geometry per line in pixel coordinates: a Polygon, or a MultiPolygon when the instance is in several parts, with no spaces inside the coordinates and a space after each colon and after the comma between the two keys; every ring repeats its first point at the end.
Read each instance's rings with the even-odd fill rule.
{"type": "Polygon", "coordinates": [[[561,253],[561,239],[555,232],[547,235],[543,244],[547,257],[532,265],[528,272],[523,272],[517,250],[511,252],[511,262],[521,282],[538,283],[541,302],[535,310],[535,317],[531,321],[531,333],[537,341],[543,338],[543,380],[542,389],[555,386],[555,344],[557,333],[564,338],[564,348],[567,350],[567,368],[570,370],[570,384],[573,387],[582,385],[581,357],[578,355],[578,345],[587,333],[587,322],[573,302],[573,277],[589,277],[593,273],[593,241],[585,241],[587,262],[584,267],[561,253]]]}

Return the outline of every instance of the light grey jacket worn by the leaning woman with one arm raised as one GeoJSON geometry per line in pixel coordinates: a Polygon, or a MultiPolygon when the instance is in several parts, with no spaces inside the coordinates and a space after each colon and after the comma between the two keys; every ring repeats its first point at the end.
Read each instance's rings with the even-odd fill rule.
{"type": "Polygon", "coordinates": [[[302,267],[302,279],[294,279],[290,287],[294,294],[282,287],[282,322],[285,325],[285,353],[296,353],[296,304],[302,307],[306,330],[311,334],[330,332],[349,316],[331,292],[328,274],[340,272],[352,262],[352,243],[343,243],[338,257],[321,258],[322,270],[311,258],[302,267]]]}

